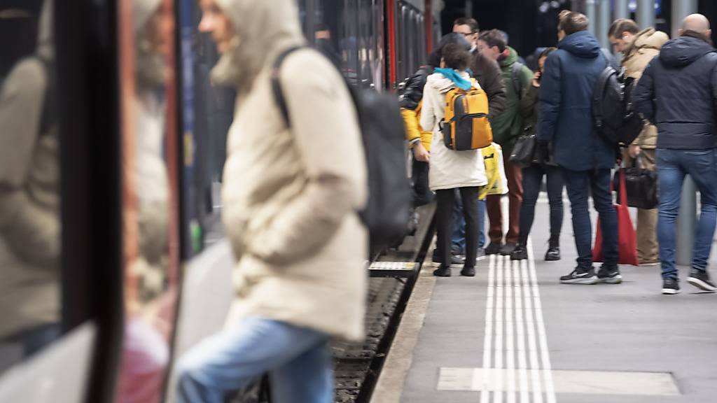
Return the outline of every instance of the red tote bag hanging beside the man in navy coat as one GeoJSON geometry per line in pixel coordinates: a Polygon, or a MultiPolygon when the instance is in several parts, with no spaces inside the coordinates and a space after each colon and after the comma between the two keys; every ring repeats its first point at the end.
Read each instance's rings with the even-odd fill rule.
{"type": "MultiPolygon", "coordinates": [[[[635,227],[632,227],[632,218],[630,218],[630,210],[627,208],[627,188],[625,186],[625,169],[619,170],[620,175],[620,204],[615,204],[617,210],[617,237],[619,243],[619,260],[620,265],[637,266],[637,234],[635,227]]],[[[612,188],[612,184],[610,184],[612,188]]],[[[612,190],[612,189],[611,189],[612,190]]],[[[600,219],[597,219],[597,235],[595,237],[595,247],[592,250],[592,261],[602,262],[602,230],[600,229],[600,219]]]]}

